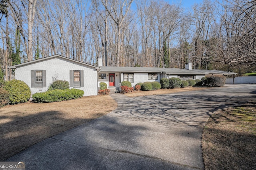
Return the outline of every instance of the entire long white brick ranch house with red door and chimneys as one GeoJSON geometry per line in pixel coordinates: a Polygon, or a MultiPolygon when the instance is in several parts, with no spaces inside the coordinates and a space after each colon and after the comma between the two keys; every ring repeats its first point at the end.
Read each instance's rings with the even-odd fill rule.
{"type": "MultiPolygon", "coordinates": [[[[99,63],[102,64],[100,60],[99,63]]],[[[160,79],[177,77],[182,80],[201,79],[207,74],[236,75],[234,72],[220,70],[193,70],[191,63],[186,69],[156,67],[117,67],[93,66],[60,55],[53,55],[26,63],[10,66],[16,69],[16,80],[28,84],[32,94],[46,92],[53,80],[67,80],[70,88],[84,91],[84,96],[98,94],[100,82],[109,89],[118,91],[122,81],[131,82],[134,87],[139,82],[160,82],[160,79]]]]}

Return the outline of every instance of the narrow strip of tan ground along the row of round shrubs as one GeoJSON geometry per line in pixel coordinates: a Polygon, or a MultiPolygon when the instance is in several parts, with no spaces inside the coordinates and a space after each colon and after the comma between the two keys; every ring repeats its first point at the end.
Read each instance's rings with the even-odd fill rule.
{"type": "Polygon", "coordinates": [[[169,93],[177,93],[177,92],[187,92],[192,90],[204,90],[207,89],[204,87],[185,87],[185,88],[173,88],[173,89],[159,89],[152,91],[134,91],[132,93],[125,93],[128,97],[136,97],[136,96],[148,96],[148,95],[156,95],[156,94],[169,94],[169,93]]]}

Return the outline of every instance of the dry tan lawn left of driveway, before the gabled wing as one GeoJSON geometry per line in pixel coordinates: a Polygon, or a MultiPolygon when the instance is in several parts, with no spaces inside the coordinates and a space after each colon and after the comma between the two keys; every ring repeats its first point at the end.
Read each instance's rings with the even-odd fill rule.
{"type": "Polygon", "coordinates": [[[0,161],[48,137],[103,116],[117,107],[110,96],[0,108],[0,161]]]}

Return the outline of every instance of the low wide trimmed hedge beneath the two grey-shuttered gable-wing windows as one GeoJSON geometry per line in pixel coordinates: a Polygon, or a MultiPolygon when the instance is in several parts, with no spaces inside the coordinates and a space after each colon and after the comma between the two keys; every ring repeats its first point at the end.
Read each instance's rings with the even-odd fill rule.
{"type": "Polygon", "coordinates": [[[81,98],[84,95],[83,90],[79,89],[65,89],[65,90],[49,90],[47,92],[35,93],[32,95],[34,102],[36,103],[50,103],[60,102],[63,100],[71,100],[81,98]]]}

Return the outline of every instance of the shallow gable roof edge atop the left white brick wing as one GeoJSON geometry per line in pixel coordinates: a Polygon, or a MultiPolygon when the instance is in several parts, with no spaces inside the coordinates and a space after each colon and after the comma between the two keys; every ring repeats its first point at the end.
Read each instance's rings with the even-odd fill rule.
{"type": "Polygon", "coordinates": [[[67,57],[64,57],[64,56],[61,56],[61,55],[52,55],[52,56],[49,56],[49,57],[44,57],[44,58],[41,58],[41,59],[37,59],[37,60],[32,60],[32,61],[28,61],[28,62],[25,62],[25,63],[21,63],[21,64],[16,64],[14,66],[9,66],[8,68],[17,68],[17,67],[20,67],[20,66],[25,66],[27,64],[33,64],[33,63],[38,63],[40,61],[44,61],[44,60],[48,60],[48,59],[54,59],[54,58],[62,58],[62,59],[65,59],[65,60],[69,60],[69,61],[73,61],[73,62],[76,62],[76,63],[79,63],[79,64],[84,64],[86,66],[89,66],[89,67],[92,67],[92,68],[95,68],[96,70],[100,70],[100,67],[98,66],[94,66],[94,65],[91,65],[91,64],[87,64],[87,63],[84,63],[84,62],[81,62],[81,61],[77,61],[77,60],[74,60],[74,59],[70,59],[70,58],[67,58],[67,57]]]}

